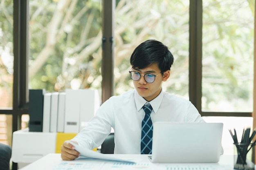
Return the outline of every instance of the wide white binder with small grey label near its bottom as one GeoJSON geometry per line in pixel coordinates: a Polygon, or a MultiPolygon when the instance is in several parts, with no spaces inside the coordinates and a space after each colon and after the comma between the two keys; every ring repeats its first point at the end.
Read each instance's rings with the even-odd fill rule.
{"type": "Polygon", "coordinates": [[[65,133],[78,133],[79,132],[79,118],[80,118],[80,91],[66,89],[65,97],[65,133]]]}

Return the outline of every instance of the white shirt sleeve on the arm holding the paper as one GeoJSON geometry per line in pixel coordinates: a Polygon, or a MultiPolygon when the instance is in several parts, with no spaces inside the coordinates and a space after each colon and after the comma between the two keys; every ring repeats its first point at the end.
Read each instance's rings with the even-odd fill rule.
{"type": "Polygon", "coordinates": [[[99,147],[111,132],[113,124],[111,106],[112,104],[109,100],[104,102],[97,110],[96,115],[90,120],[88,126],[83,128],[71,140],[88,149],[99,147]]]}

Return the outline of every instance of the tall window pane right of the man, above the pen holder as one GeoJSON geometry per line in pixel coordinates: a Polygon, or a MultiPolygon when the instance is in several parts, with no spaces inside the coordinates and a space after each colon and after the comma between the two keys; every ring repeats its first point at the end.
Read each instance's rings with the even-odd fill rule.
{"type": "Polygon", "coordinates": [[[254,4],[204,0],[202,110],[252,112],[254,4]]]}

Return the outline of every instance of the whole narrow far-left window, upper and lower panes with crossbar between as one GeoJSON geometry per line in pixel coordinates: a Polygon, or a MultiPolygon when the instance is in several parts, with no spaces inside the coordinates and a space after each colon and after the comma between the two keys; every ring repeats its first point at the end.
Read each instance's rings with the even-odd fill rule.
{"type": "Polygon", "coordinates": [[[0,11],[0,143],[11,146],[12,115],[9,111],[13,107],[13,1],[3,1],[0,11]]]}

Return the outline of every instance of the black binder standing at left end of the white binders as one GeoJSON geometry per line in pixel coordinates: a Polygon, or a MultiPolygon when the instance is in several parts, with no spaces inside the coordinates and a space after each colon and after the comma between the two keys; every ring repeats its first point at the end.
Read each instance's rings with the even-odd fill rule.
{"type": "Polygon", "coordinates": [[[45,89],[29,89],[29,132],[43,132],[45,89]]]}

